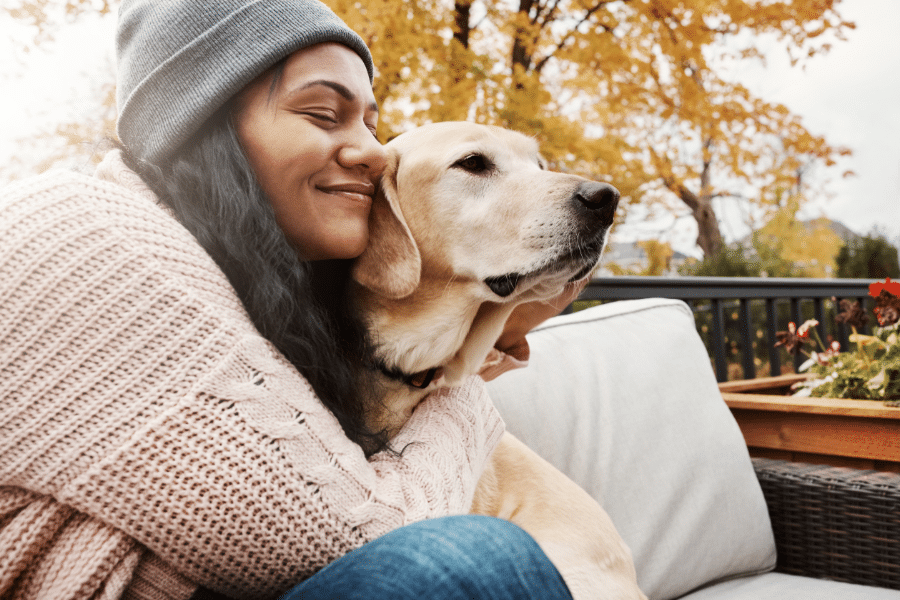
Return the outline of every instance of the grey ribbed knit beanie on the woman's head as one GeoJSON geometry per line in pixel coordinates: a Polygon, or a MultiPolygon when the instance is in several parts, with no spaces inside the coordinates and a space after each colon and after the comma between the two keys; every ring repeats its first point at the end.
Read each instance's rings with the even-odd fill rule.
{"type": "Polygon", "coordinates": [[[291,53],[365,42],[318,0],[124,0],[116,32],[116,133],[163,163],[244,86],[291,53]]]}

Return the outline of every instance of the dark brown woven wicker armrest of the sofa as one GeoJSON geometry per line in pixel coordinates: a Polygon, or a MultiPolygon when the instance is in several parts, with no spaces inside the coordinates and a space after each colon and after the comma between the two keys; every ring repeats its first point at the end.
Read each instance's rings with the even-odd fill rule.
{"type": "Polygon", "coordinates": [[[777,570],[900,589],[900,474],[753,459],[777,570]]]}

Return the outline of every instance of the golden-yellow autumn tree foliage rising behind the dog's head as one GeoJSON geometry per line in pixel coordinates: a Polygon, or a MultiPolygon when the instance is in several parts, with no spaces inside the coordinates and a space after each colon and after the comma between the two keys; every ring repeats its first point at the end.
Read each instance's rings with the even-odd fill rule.
{"type": "Polygon", "coordinates": [[[763,34],[798,62],[828,49],[824,34],[843,39],[837,0],[329,4],[376,55],[385,137],[448,118],[524,131],[558,168],[686,207],[705,255],[722,248],[714,199],[773,203],[810,163],[849,153],[728,77],[761,59],[763,34]]]}

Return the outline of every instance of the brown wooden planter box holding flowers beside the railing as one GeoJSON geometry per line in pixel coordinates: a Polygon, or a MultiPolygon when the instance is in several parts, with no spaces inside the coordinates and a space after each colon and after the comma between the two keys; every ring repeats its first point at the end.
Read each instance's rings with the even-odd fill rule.
{"type": "Polygon", "coordinates": [[[900,408],[871,400],[787,395],[805,378],[719,384],[750,455],[900,473],[900,408]]]}

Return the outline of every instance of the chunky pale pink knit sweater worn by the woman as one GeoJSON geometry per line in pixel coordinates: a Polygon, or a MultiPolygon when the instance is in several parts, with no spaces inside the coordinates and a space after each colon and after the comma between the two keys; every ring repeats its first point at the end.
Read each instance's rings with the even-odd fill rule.
{"type": "Polygon", "coordinates": [[[367,461],[118,152],[0,193],[0,390],[15,599],[275,597],[466,512],[503,429],[473,377],[367,461]]]}

